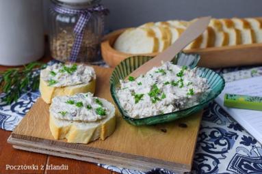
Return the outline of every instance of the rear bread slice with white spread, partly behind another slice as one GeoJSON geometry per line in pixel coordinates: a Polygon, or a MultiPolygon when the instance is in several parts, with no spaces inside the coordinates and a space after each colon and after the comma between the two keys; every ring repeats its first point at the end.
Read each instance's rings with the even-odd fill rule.
{"type": "Polygon", "coordinates": [[[47,104],[55,96],[72,96],[75,93],[94,93],[94,68],[83,64],[55,63],[40,72],[40,93],[47,104]]]}

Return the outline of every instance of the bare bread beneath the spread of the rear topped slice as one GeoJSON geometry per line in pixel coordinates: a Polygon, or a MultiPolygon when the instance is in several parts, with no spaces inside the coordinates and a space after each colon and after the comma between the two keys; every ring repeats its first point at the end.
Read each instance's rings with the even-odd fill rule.
{"type": "MultiPolygon", "coordinates": [[[[45,73],[46,70],[42,70],[42,73],[45,73]]],[[[91,92],[94,93],[96,88],[96,79],[92,78],[89,83],[82,83],[80,85],[73,85],[68,87],[51,87],[49,84],[44,81],[40,76],[40,85],[39,91],[41,93],[41,98],[47,104],[50,104],[52,98],[55,96],[72,96],[76,93],[86,93],[91,92]]]]}

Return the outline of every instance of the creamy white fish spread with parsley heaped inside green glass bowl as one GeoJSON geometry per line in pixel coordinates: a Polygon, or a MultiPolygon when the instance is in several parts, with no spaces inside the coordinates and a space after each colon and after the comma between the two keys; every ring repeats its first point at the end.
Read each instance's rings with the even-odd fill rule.
{"type": "Polygon", "coordinates": [[[120,81],[117,96],[129,117],[144,118],[194,106],[208,88],[207,79],[199,77],[196,68],[166,62],[142,76],[120,81]]]}

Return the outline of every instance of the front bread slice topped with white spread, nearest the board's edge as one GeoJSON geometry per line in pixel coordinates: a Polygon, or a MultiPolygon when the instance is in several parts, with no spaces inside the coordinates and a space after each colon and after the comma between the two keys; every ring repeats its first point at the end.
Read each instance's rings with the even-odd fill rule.
{"type": "Polygon", "coordinates": [[[68,143],[105,140],[116,127],[114,105],[92,93],[57,96],[49,108],[49,127],[54,139],[68,143]]]}

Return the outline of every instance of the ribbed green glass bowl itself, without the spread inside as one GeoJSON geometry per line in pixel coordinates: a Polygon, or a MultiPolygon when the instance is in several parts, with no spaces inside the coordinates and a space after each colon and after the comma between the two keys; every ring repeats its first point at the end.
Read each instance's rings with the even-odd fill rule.
{"type": "MultiPolygon", "coordinates": [[[[210,89],[207,93],[204,93],[202,97],[200,97],[199,104],[185,108],[180,111],[175,111],[173,113],[166,113],[161,115],[154,115],[152,117],[146,118],[131,118],[127,114],[127,112],[121,107],[118,97],[116,95],[116,89],[120,87],[120,79],[125,79],[133,70],[137,69],[138,67],[142,66],[143,63],[152,59],[152,57],[147,56],[134,56],[121,61],[118,66],[112,72],[112,76],[110,77],[110,91],[111,95],[118,106],[122,117],[129,122],[129,124],[133,124],[135,126],[141,125],[153,125],[153,124],[161,124],[168,121],[173,121],[175,119],[179,119],[182,117],[187,117],[188,115],[192,115],[197,113],[198,111],[202,110],[211,100],[215,99],[221,91],[224,89],[224,78],[210,70],[208,68],[197,68],[196,72],[198,76],[207,78],[207,84],[209,85],[210,89]]],[[[195,68],[196,64],[200,60],[200,56],[196,54],[186,54],[186,53],[179,53],[174,57],[172,60],[173,63],[176,63],[179,66],[188,66],[189,68],[195,68]]]]}

